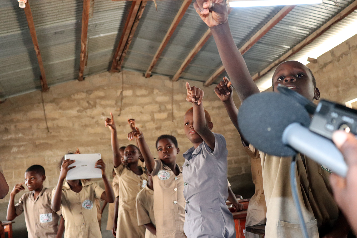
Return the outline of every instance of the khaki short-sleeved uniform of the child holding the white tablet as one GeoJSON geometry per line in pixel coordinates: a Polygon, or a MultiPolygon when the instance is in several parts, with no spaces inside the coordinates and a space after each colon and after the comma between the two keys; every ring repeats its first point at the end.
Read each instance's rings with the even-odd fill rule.
{"type": "Polygon", "coordinates": [[[72,191],[67,182],[62,187],[65,238],[101,238],[95,199],[100,199],[104,189],[91,181],[81,180],[81,183],[83,188],[79,193],[72,191]]]}

